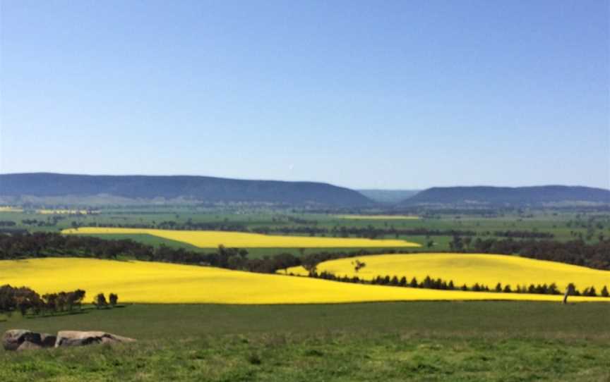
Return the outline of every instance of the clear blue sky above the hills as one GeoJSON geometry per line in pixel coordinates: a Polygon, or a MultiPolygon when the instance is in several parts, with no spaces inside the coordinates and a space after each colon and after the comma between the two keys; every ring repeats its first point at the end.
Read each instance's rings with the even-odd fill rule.
{"type": "Polygon", "coordinates": [[[610,187],[609,1],[0,13],[1,173],[610,187]]]}

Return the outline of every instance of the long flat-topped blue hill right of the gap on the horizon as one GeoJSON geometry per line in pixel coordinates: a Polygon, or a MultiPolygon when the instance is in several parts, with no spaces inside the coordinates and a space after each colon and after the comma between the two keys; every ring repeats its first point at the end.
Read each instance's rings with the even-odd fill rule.
{"type": "Polygon", "coordinates": [[[432,187],[401,204],[610,204],[610,190],[546,185],[534,187],[432,187]]]}

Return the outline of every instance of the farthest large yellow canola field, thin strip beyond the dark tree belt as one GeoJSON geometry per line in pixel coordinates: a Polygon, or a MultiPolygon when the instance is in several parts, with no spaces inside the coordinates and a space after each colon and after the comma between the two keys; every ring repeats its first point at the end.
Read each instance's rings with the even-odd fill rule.
{"type": "Polygon", "coordinates": [[[324,248],[324,247],[419,247],[404,240],[371,240],[360,238],[310,238],[307,236],[273,236],[258,233],[225,232],[217,230],[155,230],[146,228],[83,227],[62,230],[66,234],[148,234],[187,242],[201,248],[218,245],[240,248],[324,248]]]}

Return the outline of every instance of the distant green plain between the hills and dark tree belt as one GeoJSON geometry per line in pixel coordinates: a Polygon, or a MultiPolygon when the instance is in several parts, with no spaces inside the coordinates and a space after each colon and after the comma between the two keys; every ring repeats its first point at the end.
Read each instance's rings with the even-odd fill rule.
{"type": "MultiPolygon", "coordinates": [[[[8,208],[8,207],[6,207],[8,208]]],[[[461,214],[459,211],[444,211],[443,213],[421,213],[419,218],[396,218],[396,216],[415,216],[415,211],[409,214],[388,215],[385,210],[361,211],[359,214],[349,214],[352,218],[340,218],[348,214],[309,213],[294,209],[263,209],[263,208],[204,208],[204,207],[121,207],[100,208],[99,214],[39,214],[37,208],[21,209],[11,207],[14,211],[0,209],[0,221],[12,222],[14,228],[28,231],[59,231],[78,227],[138,227],[143,229],[176,229],[193,230],[191,225],[210,225],[214,230],[239,230],[242,233],[265,233],[266,235],[288,235],[309,238],[369,238],[376,240],[400,240],[400,246],[393,249],[411,252],[450,252],[455,236],[474,242],[482,240],[501,240],[507,235],[546,235],[552,240],[566,242],[583,240],[594,244],[600,238],[610,238],[610,217],[607,213],[596,210],[571,209],[521,209],[496,211],[494,214],[482,211],[479,214],[461,214]],[[354,218],[356,217],[356,218],[354,218]],[[24,223],[25,222],[25,223],[24,223]],[[174,224],[168,226],[167,224],[174,224]],[[421,247],[404,247],[402,241],[414,242],[421,247]]],[[[49,208],[60,210],[65,208],[49,208]]],[[[201,230],[201,228],[196,228],[201,230]]],[[[209,230],[209,228],[208,228],[209,230]]],[[[90,235],[98,235],[90,233],[90,235]]],[[[109,234],[105,237],[109,237],[109,234]]],[[[122,233],[114,238],[133,238],[142,240],[148,236],[148,242],[155,240],[156,245],[184,246],[185,242],[177,242],[160,236],[149,234],[136,235],[122,233]]],[[[104,237],[102,235],[98,237],[104,237]]],[[[520,239],[520,237],[515,237],[520,239]]],[[[467,242],[465,248],[468,250],[467,242]]],[[[211,244],[208,244],[211,245],[211,244]]],[[[285,247],[251,247],[251,256],[263,257],[277,253],[292,254],[311,253],[311,248],[282,243],[285,247]]],[[[366,244],[367,248],[371,244],[366,244]]],[[[331,247],[315,247],[313,250],[342,251],[352,247],[347,245],[332,245],[331,247]]],[[[376,249],[386,247],[374,247],[376,249]]],[[[353,248],[353,247],[352,247],[353,248]]],[[[389,248],[389,247],[386,247],[389,248]]]]}

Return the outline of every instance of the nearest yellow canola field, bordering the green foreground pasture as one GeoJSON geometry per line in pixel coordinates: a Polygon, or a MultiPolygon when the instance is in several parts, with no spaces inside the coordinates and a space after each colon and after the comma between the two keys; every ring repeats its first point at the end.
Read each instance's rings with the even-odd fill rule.
{"type": "MultiPolygon", "coordinates": [[[[305,304],[409,300],[540,300],[561,296],[462,292],[339,283],[314,278],[229,271],[203,266],[45,258],[0,261],[0,285],[27,285],[39,293],[81,288],[86,300],[114,292],[121,302],[305,304]]],[[[606,301],[574,297],[573,301],[606,301]]]]}

